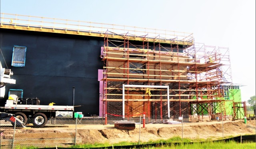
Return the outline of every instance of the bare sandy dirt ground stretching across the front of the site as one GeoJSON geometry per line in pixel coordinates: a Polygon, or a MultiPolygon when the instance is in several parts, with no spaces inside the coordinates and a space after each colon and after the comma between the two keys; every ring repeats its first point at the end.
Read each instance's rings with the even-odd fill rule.
{"type": "MultiPolygon", "coordinates": [[[[54,126],[44,128],[18,129],[18,133],[29,133],[30,137],[37,133],[53,133],[62,136],[64,133],[74,133],[75,125],[54,126]]],[[[244,120],[223,121],[224,137],[256,134],[256,121],[244,120]]],[[[3,139],[11,139],[13,130],[1,127],[5,134],[3,139]]],[[[84,143],[118,143],[121,141],[141,142],[150,140],[168,139],[170,137],[182,137],[182,124],[136,124],[134,130],[116,129],[114,125],[78,125],[77,137],[81,138],[80,144],[84,143]],[[141,127],[141,128],[140,128],[141,127]],[[140,136],[139,136],[140,132],[140,136]]],[[[41,136],[43,138],[43,136],[41,136]]],[[[222,121],[202,121],[183,123],[183,138],[191,139],[219,139],[222,137],[222,121]]]]}

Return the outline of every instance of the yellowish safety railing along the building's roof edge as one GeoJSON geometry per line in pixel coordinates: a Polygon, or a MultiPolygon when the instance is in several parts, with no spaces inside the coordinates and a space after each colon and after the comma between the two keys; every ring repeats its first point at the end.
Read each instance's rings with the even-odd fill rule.
{"type": "Polygon", "coordinates": [[[0,13],[0,24],[1,27],[4,24],[15,26],[26,26],[37,27],[37,28],[51,28],[52,30],[72,30],[79,32],[89,32],[89,33],[99,33],[105,34],[106,30],[110,34],[127,34],[134,37],[145,37],[148,38],[160,38],[161,40],[177,40],[182,42],[192,42],[193,33],[187,32],[176,32],[171,30],[159,30],[153,28],[142,28],[136,26],[126,26],[117,24],[106,24],[106,23],[96,23],[96,22],[86,22],[77,20],[67,20],[67,19],[56,19],[38,16],[26,16],[18,14],[7,14],[0,13]]]}

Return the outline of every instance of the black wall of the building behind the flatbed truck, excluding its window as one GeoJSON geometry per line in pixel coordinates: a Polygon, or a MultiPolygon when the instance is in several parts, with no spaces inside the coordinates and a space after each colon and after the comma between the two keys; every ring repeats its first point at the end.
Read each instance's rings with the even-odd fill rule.
{"type": "Polygon", "coordinates": [[[22,30],[0,29],[1,64],[14,73],[16,84],[9,89],[23,89],[23,97],[38,97],[41,105],[72,105],[75,87],[75,111],[84,116],[99,114],[98,69],[102,69],[100,47],[103,38],[74,36],[22,30]],[[26,46],[25,67],[12,67],[14,46],[26,46]],[[6,61],[7,67],[5,65],[6,61]]]}

